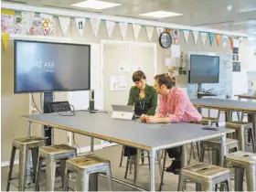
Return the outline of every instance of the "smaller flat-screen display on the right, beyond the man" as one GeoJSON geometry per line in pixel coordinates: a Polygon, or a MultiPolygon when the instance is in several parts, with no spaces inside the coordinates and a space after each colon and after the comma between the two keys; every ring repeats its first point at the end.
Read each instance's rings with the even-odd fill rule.
{"type": "Polygon", "coordinates": [[[190,55],[189,83],[219,83],[219,57],[190,55]]]}

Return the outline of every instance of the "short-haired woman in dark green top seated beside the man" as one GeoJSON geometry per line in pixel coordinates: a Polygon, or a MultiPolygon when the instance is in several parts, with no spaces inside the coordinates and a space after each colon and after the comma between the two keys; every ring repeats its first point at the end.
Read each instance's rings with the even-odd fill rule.
{"type": "MultiPolygon", "coordinates": [[[[133,86],[130,90],[128,105],[134,106],[136,115],[155,115],[157,107],[158,93],[153,86],[147,85],[146,78],[142,70],[137,70],[133,73],[133,86]]],[[[136,155],[136,149],[125,146],[124,156],[136,155]]]]}

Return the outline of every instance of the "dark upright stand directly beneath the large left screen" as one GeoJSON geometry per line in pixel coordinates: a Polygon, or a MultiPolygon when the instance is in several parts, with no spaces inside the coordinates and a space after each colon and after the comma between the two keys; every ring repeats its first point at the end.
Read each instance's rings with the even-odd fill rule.
{"type": "MultiPolygon", "coordinates": [[[[53,102],[53,92],[44,92],[44,113],[50,113],[49,102],[53,102]]],[[[44,125],[44,135],[46,145],[53,144],[53,129],[44,125]]]]}

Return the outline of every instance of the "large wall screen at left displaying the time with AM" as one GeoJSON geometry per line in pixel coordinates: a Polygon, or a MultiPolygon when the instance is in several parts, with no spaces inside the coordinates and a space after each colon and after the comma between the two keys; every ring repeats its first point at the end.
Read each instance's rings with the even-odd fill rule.
{"type": "Polygon", "coordinates": [[[90,90],[91,47],[15,41],[15,93],[90,90]]]}

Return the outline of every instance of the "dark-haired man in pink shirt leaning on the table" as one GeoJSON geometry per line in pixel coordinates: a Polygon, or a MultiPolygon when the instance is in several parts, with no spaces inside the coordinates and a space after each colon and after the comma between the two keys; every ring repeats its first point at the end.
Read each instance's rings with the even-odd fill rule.
{"type": "MultiPolygon", "coordinates": [[[[187,93],[176,87],[175,81],[168,74],[155,76],[155,90],[160,94],[160,106],[154,116],[144,115],[146,123],[200,123],[202,116],[187,97],[187,93]]],[[[177,130],[178,131],[178,130],[177,130]]],[[[181,147],[167,149],[170,158],[175,158],[166,171],[179,173],[181,167],[181,147]]]]}

